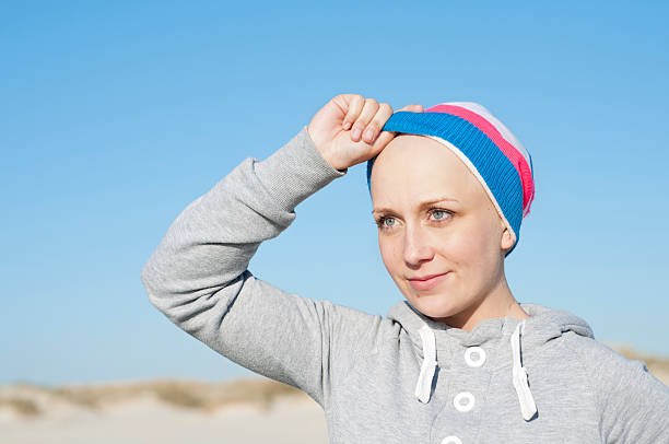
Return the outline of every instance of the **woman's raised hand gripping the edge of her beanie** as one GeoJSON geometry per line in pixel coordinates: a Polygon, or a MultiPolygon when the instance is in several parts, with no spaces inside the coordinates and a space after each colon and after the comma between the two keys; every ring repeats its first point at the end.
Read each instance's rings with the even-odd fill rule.
{"type": "MultiPolygon", "coordinates": [[[[422,113],[423,106],[407,105],[399,110],[422,113]]],[[[397,136],[396,131],[380,131],[391,115],[387,103],[340,94],[316,113],[307,132],[322,157],[343,171],[374,157],[397,136]]]]}

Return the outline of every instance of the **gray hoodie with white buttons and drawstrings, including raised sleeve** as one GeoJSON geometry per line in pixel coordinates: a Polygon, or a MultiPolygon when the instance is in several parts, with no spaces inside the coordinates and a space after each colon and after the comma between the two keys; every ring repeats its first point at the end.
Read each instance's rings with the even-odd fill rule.
{"type": "Polygon", "coordinates": [[[347,172],[306,127],[245,159],[172,223],[142,269],[149,300],[222,355],[306,392],[331,443],[669,443],[669,388],[568,312],[520,303],[529,318],[466,331],[406,301],[382,317],[256,278],[259,245],[347,172]]]}

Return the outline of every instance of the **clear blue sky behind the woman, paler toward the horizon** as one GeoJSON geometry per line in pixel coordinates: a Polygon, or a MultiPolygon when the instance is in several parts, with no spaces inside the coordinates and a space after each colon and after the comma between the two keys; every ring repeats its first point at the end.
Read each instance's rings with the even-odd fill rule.
{"type": "MultiPolygon", "coordinates": [[[[519,302],[669,355],[665,2],[4,2],[0,383],[249,375],[175,327],[140,272],[169,224],[340,93],[483,104],[532,155],[506,260],[519,302]],[[415,8],[420,4],[420,8],[415,8]]],[[[401,293],[365,164],[249,269],[385,314],[401,293]]]]}

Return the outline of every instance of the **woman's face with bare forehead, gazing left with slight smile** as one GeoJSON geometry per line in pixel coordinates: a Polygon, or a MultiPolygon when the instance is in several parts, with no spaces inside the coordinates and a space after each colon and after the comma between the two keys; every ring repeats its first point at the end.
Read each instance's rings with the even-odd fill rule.
{"type": "Polygon", "coordinates": [[[421,313],[455,325],[504,280],[510,233],[483,186],[447,147],[397,136],[376,157],[371,188],[384,265],[421,313]],[[433,274],[444,276],[411,281],[433,274]]]}

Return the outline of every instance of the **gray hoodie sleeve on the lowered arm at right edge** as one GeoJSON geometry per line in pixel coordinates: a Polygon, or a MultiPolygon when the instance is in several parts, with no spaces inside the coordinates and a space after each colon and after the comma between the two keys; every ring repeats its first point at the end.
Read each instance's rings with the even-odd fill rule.
{"type": "Polygon", "coordinates": [[[602,432],[606,443],[669,443],[669,387],[648,372],[643,361],[610,352],[614,365],[603,362],[592,375],[603,384],[602,432]]]}

